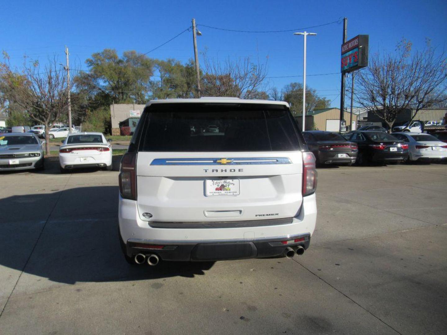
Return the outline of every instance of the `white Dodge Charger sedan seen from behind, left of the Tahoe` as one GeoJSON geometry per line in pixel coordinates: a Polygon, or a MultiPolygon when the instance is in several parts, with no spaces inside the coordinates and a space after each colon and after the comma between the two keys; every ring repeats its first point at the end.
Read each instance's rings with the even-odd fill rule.
{"type": "Polygon", "coordinates": [[[60,171],[104,167],[112,170],[112,147],[101,133],[70,134],[59,148],[60,171]]]}

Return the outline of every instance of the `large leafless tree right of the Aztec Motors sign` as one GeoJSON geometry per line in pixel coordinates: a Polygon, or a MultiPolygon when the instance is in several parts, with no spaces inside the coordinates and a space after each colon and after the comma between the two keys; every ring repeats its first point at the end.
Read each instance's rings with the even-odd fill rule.
{"type": "Polygon", "coordinates": [[[392,129],[398,115],[417,112],[447,101],[447,63],[444,52],[436,54],[427,41],[422,51],[412,54],[412,43],[403,39],[395,54],[374,54],[369,66],[356,75],[355,100],[392,129]]]}

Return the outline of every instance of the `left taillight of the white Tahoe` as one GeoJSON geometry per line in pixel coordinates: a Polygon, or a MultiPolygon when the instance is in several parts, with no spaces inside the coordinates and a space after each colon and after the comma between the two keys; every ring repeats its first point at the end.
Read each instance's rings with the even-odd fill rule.
{"type": "Polygon", "coordinates": [[[122,156],[119,169],[119,193],[121,197],[129,200],[137,200],[136,160],[136,152],[126,152],[122,156]]]}

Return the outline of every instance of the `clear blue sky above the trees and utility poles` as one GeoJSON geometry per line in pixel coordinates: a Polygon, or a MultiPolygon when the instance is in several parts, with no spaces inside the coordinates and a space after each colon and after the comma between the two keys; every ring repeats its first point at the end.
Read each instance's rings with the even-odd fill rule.
{"type": "MultiPolygon", "coordinates": [[[[210,29],[202,25],[240,30],[285,30],[305,28],[348,18],[348,39],[369,34],[370,54],[393,52],[403,37],[422,49],[425,39],[442,50],[447,46],[447,2],[432,1],[5,1],[0,14],[0,49],[20,66],[23,55],[46,61],[57,55],[64,62],[64,46],[70,63],[85,67],[93,52],[114,48],[147,52],[191,25],[194,17],[202,36],[199,52],[211,57],[259,57],[268,60],[268,76],[303,74],[303,37],[292,32],[249,34],[210,29]]],[[[342,24],[307,29],[307,85],[320,96],[340,98],[340,45],[342,24]],[[336,73],[330,75],[319,75],[336,73]],[[318,76],[312,76],[318,75],[318,76]]],[[[298,30],[299,31],[299,30],[298,30]]],[[[301,29],[303,31],[303,29],[301,29]]],[[[186,62],[194,57],[192,33],[186,32],[149,57],[175,58],[186,62]]],[[[202,61],[202,55],[199,62],[202,61]]],[[[269,78],[266,89],[302,77],[269,78]]]]}

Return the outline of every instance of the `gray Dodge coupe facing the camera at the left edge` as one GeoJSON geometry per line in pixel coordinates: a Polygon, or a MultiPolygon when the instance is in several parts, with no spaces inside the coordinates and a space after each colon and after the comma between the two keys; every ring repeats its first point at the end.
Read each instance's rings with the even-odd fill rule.
{"type": "Polygon", "coordinates": [[[1,134],[0,171],[43,170],[44,143],[32,133],[1,134]]]}

